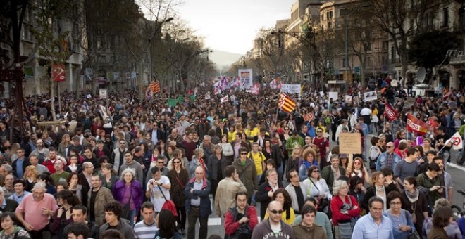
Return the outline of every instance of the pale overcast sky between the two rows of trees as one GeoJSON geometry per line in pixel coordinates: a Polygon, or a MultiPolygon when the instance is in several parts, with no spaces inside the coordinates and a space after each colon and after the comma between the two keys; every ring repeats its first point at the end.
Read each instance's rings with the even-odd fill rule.
{"type": "Polygon", "coordinates": [[[192,30],[205,37],[206,47],[244,54],[261,27],[290,18],[295,0],[185,0],[175,11],[192,30]]]}

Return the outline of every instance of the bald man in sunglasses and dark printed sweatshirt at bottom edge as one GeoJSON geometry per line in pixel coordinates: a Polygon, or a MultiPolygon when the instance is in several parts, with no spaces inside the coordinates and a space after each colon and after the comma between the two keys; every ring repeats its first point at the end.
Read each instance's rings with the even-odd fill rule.
{"type": "Polygon", "coordinates": [[[295,238],[292,227],[281,219],[284,210],[280,202],[271,201],[266,210],[268,211],[269,217],[256,225],[252,233],[252,239],[295,238]]]}

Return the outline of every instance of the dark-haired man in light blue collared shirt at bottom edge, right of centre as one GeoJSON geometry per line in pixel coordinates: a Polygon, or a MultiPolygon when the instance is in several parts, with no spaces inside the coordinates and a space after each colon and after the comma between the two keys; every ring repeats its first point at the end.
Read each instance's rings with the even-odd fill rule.
{"type": "Polygon", "coordinates": [[[394,239],[392,221],[383,216],[383,199],[370,198],[368,207],[370,213],[356,221],[352,239],[394,239]]]}

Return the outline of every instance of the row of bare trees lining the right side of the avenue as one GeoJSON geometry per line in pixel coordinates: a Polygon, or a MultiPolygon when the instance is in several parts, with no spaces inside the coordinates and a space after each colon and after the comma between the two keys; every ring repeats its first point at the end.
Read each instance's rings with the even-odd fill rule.
{"type": "MultiPolygon", "coordinates": [[[[378,67],[389,65],[388,46],[393,46],[392,60],[399,59],[400,76],[404,79],[409,64],[437,71],[441,63],[447,64],[447,59],[443,62],[447,50],[457,49],[460,43],[460,32],[452,32],[449,27],[438,29],[431,24],[433,19],[440,18],[439,13],[444,8],[447,11],[447,6],[454,6],[452,2],[356,0],[337,14],[335,29],[304,25],[299,33],[281,34],[274,29],[261,29],[256,36],[256,41],[260,42],[259,54],[245,62],[255,72],[280,72],[281,75],[292,76],[296,71],[310,71],[323,75],[329,72],[328,62],[332,62],[335,56],[343,58],[347,44],[350,58],[356,58],[360,63],[353,65],[349,59],[349,72],[359,66],[361,83],[364,84],[369,63],[376,61],[378,67]],[[284,49],[278,44],[280,37],[292,43],[286,44],[284,49]],[[384,63],[380,57],[373,60],[373,56],[383,56],[384,63]]],[[[458,13],[458,8],[452,11],[458,13]]],[[[238,61],[232,71],[242,65],[243,62],[238,61]]]]}

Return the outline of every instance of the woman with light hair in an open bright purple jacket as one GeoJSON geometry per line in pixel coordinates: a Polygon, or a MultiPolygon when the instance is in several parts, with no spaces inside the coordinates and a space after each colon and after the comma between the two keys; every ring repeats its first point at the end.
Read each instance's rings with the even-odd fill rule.
{"type": "Polygon", "coordinates": [[[129,214],[122,214],[121,217],[128,219],[131,226],[134,227],[134,218],[140,210],[140,205],[142,205],[144,190],[142,190],[140,182],[135,180],[133,169],[125,169],[121,175],[122,179],[116,181],[111,192],[113,193],[113,198],[120,202],[123,207],[123,213],[125,212],[124,207],[129,207],[129,214]]]}

